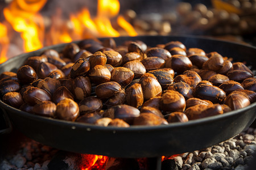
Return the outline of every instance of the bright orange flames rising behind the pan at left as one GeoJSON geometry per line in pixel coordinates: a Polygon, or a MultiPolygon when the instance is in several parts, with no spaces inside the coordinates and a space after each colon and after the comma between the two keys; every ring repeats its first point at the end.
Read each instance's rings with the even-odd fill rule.
{"type": "Polygon", "coordinates": [[[15,36],[17,32],[23,40],[24,52],[73,40],[118,37],[120,33],[112,27],[114,20],[117,20],[118,25],[130,36],[137,36],[137,32],[123,16],[116,18],[120,8],[118,0],[98,0],[97,15],[94,18],[90,16],[88,8],[82,8],[76,14],[70,14],[69,20],[63,19],[60,8],[55,10],[56,13],[51,18],[40,15],[40,10],[46,2],[47,0],[13,0],[3,9],[5,23],[13,30],[0,23],[0,63],[5,62],[8,57],[13,57],[9,56],[8,52],[11,39],[19,37],[15,36]]]}

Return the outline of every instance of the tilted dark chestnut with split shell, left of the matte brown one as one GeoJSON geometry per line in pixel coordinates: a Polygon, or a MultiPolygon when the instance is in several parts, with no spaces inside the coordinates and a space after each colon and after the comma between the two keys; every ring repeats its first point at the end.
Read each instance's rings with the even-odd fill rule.
{"type": "Polygon", "coordinates": [[[78,59],[70,71],[70,77],[76,78],[77,76],[84,76],[90,70],[90,63],[87,59],[78,59]]]}

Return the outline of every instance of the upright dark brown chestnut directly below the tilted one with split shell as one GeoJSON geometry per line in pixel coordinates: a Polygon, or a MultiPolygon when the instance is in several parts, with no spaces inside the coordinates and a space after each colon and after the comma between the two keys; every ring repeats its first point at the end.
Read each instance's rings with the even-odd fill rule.
{"type": "Polygon", "coordinates": [[[87,76],[79,76],[73,80],[73,93],[75,99],[82,100],[85,97],[90,96],[91,92],[92,86],[87,76]]]}

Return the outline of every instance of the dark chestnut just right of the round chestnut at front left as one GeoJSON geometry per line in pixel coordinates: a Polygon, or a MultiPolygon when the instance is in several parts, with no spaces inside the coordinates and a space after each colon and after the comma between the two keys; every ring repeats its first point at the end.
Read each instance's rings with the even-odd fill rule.
{"type": "Polygon", "coordinates": [[[102,108],[102,101],[98,97],[89,96],[82,99],[79,103],[80,114],[92,113],[95,111],[100,111],[102,108]]]}

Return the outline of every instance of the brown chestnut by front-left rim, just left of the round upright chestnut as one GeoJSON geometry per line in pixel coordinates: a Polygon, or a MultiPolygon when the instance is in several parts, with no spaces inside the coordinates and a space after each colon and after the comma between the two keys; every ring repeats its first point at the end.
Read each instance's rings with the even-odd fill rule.
{"type": "Polygon", "coordinates": [[[56,105],[52,101],[42,101],[34,105],[32,112],[40,116],[55,117],[56,105]]]}

